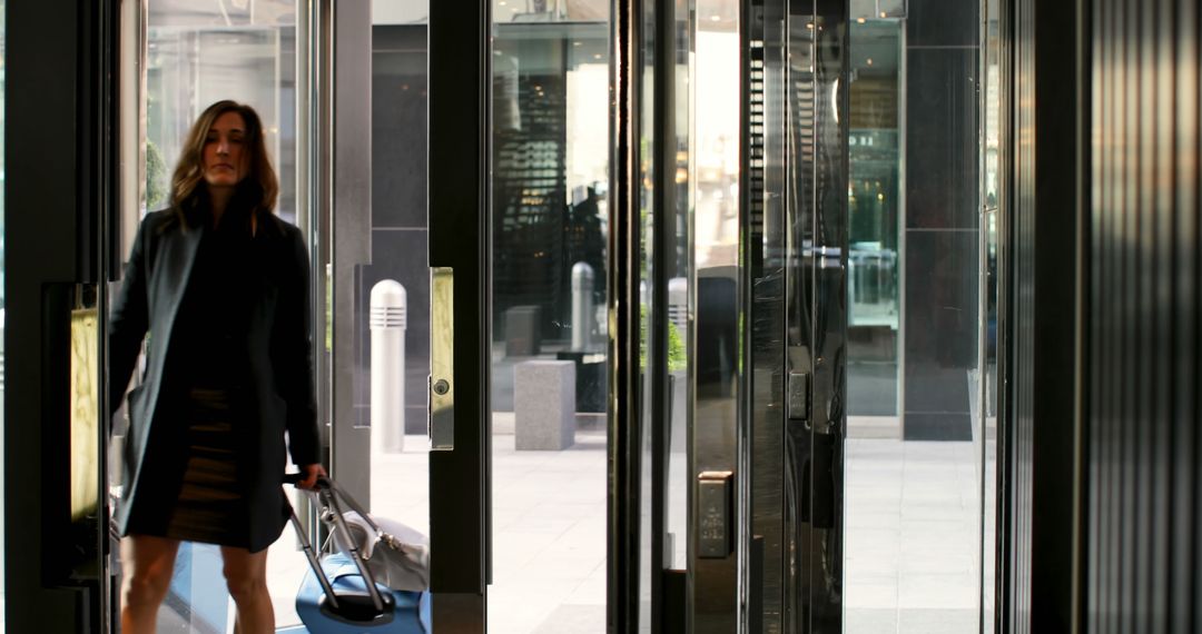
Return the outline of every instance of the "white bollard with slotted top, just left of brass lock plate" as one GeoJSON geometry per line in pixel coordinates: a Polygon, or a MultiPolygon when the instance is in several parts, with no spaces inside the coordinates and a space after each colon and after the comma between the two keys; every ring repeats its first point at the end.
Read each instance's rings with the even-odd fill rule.
{"type": "Polygon", "coordinates": [[[409,299],[395,280],[371,287],[371,453],[405,448],[405,327],[409,299]]]}

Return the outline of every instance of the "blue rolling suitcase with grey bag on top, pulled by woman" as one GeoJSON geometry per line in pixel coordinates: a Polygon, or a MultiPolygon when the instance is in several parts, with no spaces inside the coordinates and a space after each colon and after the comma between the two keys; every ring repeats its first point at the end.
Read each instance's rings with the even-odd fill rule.
{"type": "MultiPolygon", "coordinates": [[[[296,474],[286,477],[286,482],[296,484],[296,474]]],[[[379,557],[370,560],[380,562],[385,551],[399,552],[403,545],[388,539],[379,525],[353,498],[341,491],[337,484],[326,478],[317,482],[316,498],[322,521],[331,528],[334,543],[340,552],[317,557],[313,544],[305,536],[300,521],[293,510],[292,526],[296,528],[309,560],[309,573],[300,582],[297,592],[297,615],[309,634],[430,634],[430,593],[424,590],[424,578],[410,574],[421,566],[410,566],[392,578],[401,578],[407,582],[398,584],[409,590],[397,590],[377,581],[380,566],[369,566],[370,549],[375,545],[379,557]],[[343,512],[341,498],[351,507],[351,513],[343,512]],[[350,521],[349,521],[350,520],[350,521]],[[369,543],[363,546],[355,538],[351,527],[374,530],[373,537],[383,536],[385,545],[369,543]],[[376,572],[373,572],[373,568],[376,572]]],[[[399,558],[405,562],[405,557],[399,558]]],[[[397,568],[394,561],[386,562],[397,568]]],[[[385,574],[387,578],[387,573],[385,574]]]]}

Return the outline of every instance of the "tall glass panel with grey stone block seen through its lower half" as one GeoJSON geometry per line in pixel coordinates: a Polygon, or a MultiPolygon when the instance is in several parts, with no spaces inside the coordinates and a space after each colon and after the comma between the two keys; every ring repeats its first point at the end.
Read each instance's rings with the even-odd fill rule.
{"type": "Polygon", "coordinates": [[[494,2],[493,632],[606,627],[609,26],[590,6],[494,2]]]}

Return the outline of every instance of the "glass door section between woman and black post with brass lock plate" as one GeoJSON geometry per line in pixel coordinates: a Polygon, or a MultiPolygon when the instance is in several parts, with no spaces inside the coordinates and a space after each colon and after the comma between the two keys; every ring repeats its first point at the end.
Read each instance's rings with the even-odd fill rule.
{"type": "Polygon", "coordinates": [[[488,7],[321,6],[313,237],[331,473],[429,536],[435,632],[483,632],[488,7]]]}

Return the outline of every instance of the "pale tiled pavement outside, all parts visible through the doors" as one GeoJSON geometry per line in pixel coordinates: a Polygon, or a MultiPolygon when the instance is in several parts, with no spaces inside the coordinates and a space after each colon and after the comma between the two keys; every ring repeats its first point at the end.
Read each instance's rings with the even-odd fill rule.
{"type": "MultiPolygon", "coordinates": [[[[847,441],[845,632],[977,632],[978,479],[972,443],[847,441]]],[[[516,451],[494,437],[494,585],[489,632],[605,630],[606,453],[602,432],[565,451],[516,451]]],[[[424,530],[424,438],[377,459],[374,513],[424,530]]],[[[278,622],[305,570],[291,532],[269,556],[278,622]]],[[[438,556],[438,554],[433,554],[438,556]]]]}

